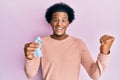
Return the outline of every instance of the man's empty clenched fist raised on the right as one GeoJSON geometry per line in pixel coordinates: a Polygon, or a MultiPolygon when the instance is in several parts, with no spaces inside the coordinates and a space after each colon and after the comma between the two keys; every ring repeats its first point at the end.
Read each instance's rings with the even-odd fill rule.
{"type": "Polygon", "coordinates": [[[110,48],[112,46],[112,43],[114,41],[114,37],[113,36],[109,36],[109,35],[104,35],[100,38],[100,52],[103,54],[108,54],[110,52],[110,48]]]}

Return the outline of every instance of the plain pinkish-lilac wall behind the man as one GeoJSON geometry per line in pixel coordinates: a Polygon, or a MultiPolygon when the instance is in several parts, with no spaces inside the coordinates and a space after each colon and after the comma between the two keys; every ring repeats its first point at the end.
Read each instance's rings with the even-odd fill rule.
{"type": "MultiPolygon", "coordinates": [[[[24,73],[24,44],[36,36],[51,34],[45,21],[46,9],[62,0],[0,0],[0,80],[27,80],[24,73]]],[[[120,1],[63,0],[75,10],[76,19],[68,34],[82,38],[94,59],[99,53],[99,38],[113,35],[110,63],[101,80],[120,79],[120,1]]],[[[40,71],[39,71],[40,73],[40,71]]],[[[90,80],[82,67],[80,79],[90,80]]],[[[40,74],[35,80],[40,80],[40,74]]]]}

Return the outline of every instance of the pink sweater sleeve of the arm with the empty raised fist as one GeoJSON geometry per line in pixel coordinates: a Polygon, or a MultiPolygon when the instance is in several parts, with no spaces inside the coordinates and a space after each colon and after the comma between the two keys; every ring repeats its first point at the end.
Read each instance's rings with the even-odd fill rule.
{"type": "Polygon", "coordinates": [[[109,62],[109,54],[104,55],[102,53],[99,53],[97,60],[94,61],[83,41],[81,42],[81,54],[81,63],[86,69],[89,76],[93,80],[99,80],[101,74],[103,73],[109,62]]]}

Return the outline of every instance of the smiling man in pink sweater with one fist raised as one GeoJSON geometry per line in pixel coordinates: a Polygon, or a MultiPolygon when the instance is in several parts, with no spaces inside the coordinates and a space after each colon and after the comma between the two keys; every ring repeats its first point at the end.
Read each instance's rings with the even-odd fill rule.
{"type": "Polygon", "coordinates": [[[114,37],[104,35],[100,38],[100,53],[94,61],[81,39],[66,34],[74,20],[74,11],[70,6],[54,4],[47,9],[45,17],[52,26],[53,34],[42,38],[41,58],[34,57],[34,51],[39,47],[37,43],[25,44],[27,77],[33,79],[41,67],[43,80],[78,80],[82,64],[89,76],[98,80],[106,68],[114,37]]]}

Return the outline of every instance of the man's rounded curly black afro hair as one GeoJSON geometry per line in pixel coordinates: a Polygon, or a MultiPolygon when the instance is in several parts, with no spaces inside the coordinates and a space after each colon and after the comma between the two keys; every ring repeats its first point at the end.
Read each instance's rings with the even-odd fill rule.
{"type": "Polygon", "coordinates": [[[50,20],[52,19],[52,15],[54,12],[66,12],[68,14],[68,20],[70,23],[75,18],[74,10],[69,5],[61,2],[61,3],[56,3],[47,9],[45,18],[48,23],[50,23],[50,20]]]}

